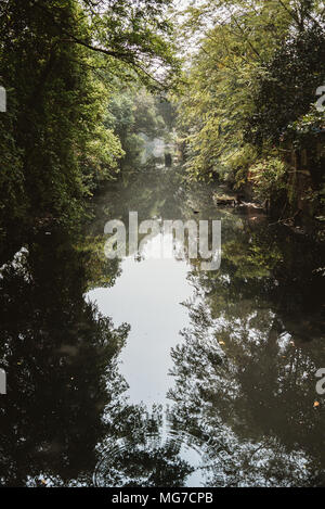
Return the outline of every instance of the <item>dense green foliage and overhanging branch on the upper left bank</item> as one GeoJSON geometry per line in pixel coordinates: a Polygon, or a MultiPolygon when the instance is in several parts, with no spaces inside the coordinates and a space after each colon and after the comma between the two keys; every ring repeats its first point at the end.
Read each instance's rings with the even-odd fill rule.
{"type": "Polygon", "coordinates": [[[164,89],[177,69],[169,0],[5,0],[0,5],[0,236],[76,222],[123,154],[107,107],[120,84],[164,89]],[[157,67],[164,73],[157,75],[157,67]]]}

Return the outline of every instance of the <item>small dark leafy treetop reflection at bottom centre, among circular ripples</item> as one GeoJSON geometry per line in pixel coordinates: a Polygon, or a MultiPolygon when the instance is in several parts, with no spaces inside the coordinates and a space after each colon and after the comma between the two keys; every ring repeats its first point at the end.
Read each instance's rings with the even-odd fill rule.
{"type": "MultiPolygon", "coordinates": [[[[114,411],[109,411],[112,420],[114,411]]],[[[99,486],[183,486],[194,471],[180,457],[181,443],[162,440],[162,409],[126,405],[115,416],[118,432],[100,445],[99,486]]]]}

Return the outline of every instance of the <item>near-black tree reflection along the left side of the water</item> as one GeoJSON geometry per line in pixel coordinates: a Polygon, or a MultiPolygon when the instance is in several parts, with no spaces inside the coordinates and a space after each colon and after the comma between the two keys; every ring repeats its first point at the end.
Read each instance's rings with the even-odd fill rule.
{"type": "Polygon", "coordinates": [[[1,366],[9,385],[1,398],[3,484],[38,484],[39,476],[87,483],[96,463],[109,398],[105,378],[128,327],[114,330],[84,302],[84,265],[68,240],[52,233],[1,271],[1,366]]]}

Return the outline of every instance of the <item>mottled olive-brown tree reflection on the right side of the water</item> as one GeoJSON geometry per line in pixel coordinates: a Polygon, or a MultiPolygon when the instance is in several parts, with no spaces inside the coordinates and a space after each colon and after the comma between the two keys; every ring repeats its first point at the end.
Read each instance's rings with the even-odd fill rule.
{"type": "Polygon", "coordinates": [[[209,445],[209,485],[323,484],[324,409],[313,405],[325,366],[320,253],[304,254],[297,272],[303,244],[283,253],[270,230],[268,242],[263,231],[224,240],[220,271],[191,276],[192,327],[172,352],[173,425],[209,445]]]}

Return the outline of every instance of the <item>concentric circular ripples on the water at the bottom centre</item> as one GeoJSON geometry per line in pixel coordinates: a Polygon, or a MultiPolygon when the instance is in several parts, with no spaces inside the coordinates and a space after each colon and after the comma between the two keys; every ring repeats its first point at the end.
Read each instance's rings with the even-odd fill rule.
{"type": "MultiPolygon", "coordinates": [[[[182,431],[141,433],[109,441],[101,448],[93,483],[98,487],[208,486],[216,465],[207,444],[182,431]]],[[[219,486],[225,480],[220,473],[219,486]]]]}

